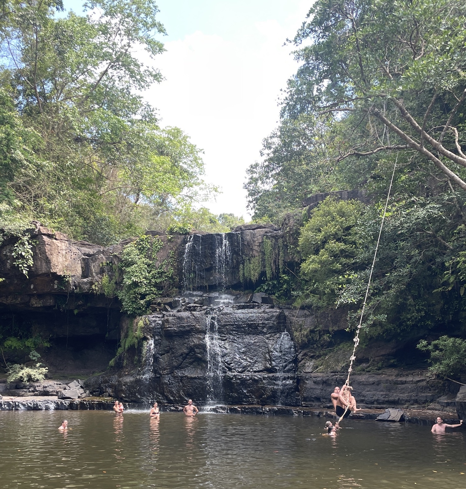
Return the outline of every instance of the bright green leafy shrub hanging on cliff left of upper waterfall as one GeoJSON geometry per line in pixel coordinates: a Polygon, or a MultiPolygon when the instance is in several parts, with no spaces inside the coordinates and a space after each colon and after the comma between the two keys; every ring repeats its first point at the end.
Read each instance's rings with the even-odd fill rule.
{"type": "Polygon", "coordinates": [[[121,254],[122,286],[117,295],[128,314],[144,314],[160,297],[173,275],[169,260],[157,260],[163,243],[158,237],[140,236],[127,244],[121,254]]]}

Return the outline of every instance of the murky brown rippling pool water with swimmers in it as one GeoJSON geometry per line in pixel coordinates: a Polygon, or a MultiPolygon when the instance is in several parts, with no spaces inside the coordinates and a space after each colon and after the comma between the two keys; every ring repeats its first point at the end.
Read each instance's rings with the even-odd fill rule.
{"type": "Polygon", "coordinates": [[[347,421],[108,411],[0,411],[1,488],[466,487],[466,431],[347,421]],[[70,430],[57,427],[66,416],[70,430]]]}

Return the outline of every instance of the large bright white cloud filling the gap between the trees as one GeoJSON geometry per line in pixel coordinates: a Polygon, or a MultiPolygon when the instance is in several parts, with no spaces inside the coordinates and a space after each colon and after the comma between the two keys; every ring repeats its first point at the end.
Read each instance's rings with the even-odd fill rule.
{"type": "MultiPolygon", "coordinates": [[[[309,5],[306,2],[306,5],[309,5]]],[[[165,77],[145,93],[164,126],[178,126],[204,149],[206,180],[222,194],[212,212],[246,215],[245,169],[260,158],[262,140],[277,125],[277,99],[296,64],[283,47],[303,19],[304,2],[281,25],[256,22],[235,42],[197,31],[165,44],[155,64],[165,77]],[[291,25],[291,27],[290,27],[291,25]]]]}

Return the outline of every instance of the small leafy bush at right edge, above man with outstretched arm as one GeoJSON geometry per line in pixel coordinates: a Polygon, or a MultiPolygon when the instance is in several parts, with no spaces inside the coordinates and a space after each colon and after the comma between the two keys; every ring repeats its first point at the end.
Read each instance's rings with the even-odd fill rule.
{"type": "Polygon", "coordinates": [[[431,372],[445,377],[458,377],[466,373],[466,340],[441,336],[430,343],[420,341],[418,348],[430,353],[431,372]]]}

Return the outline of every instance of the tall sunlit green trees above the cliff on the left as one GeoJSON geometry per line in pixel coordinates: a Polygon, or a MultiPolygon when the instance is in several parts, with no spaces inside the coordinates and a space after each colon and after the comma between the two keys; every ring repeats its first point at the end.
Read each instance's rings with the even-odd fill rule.
{"type": "Polygon", "coordinates": [[[165,229],[216,189],[201,179],[200,150],[180,129],[161,129],[140,93],[162,79],[134,54],[163,52],[158,9],[99,0],[59,17],[60,5],[2,3],[0,205],[16,228],[35,219],[102,245],[165,229]]]}

